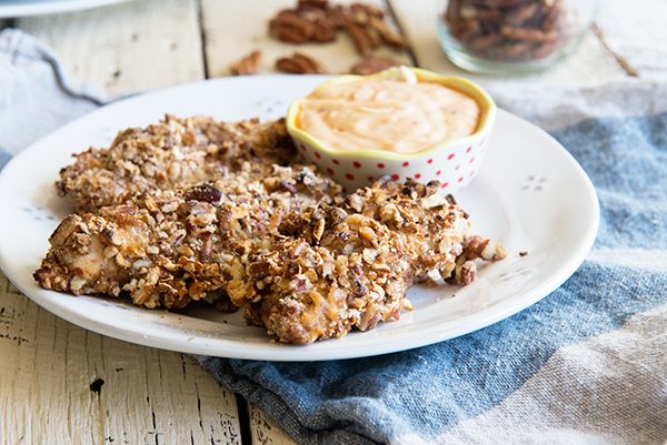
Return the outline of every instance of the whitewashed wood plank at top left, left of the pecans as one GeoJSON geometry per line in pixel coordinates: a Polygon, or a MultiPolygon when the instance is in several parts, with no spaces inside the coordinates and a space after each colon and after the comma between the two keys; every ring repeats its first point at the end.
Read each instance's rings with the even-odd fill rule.
{"type": "Polygon", "coordinates": [[[78,79],[111,93],[203,78],[196,0],[145,0],[71,14],[19,19],[78,79]]]}

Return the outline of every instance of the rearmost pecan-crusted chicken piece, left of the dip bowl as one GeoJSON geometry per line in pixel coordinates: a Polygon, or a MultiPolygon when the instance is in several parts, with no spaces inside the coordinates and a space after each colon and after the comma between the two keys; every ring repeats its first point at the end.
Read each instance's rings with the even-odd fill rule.
{"type": "Polygon", "coordinates": [[[121,131],[108,149],[77,154],[56,185],[77,213],[96,212],[140,193],[221,180],[248,165],[248,178],[260,179],[293,155],[283,120],[229,123],[166,115],[146,129],[121,131]]]}

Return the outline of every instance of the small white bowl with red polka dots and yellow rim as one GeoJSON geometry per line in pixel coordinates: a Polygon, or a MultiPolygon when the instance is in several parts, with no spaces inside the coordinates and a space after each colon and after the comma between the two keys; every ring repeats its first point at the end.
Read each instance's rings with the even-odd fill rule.
{"type": "MultiPolygon", "coordinates": [[[[496,121],[496,104],[481,87],[467,79],[440,75],[417,68],[409,70],[419,82],[440,83],[475,99],[480,108],[477,130],[468,136],[444,141],[418,153],[405,154],[384,150],[338,151],[299,128],[301,100],[297,100],[288,110],[287,130],[301,155],[348,191],[370,185],[378,178],[386,175],[400,182],[408,178],[424,183],[437,180],[440,188],[448,193],[467,185],[481,165],[496,121]]],[[[395,75],[396,71],[389,70],[371,75],[338,75],[319,88],[332,82],[364,82],[395,75]]]]}

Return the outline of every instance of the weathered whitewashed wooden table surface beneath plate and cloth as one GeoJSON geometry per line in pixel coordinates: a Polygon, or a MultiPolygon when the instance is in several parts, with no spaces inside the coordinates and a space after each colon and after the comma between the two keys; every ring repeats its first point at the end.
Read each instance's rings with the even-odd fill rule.
{"type": "MultiPolygon", "coordinates": [[[[408,51],[394,57],[442,73],[469,75],[455,68],[438,45],[437,3],[390,0],[385,4],[410,43],[408,51]]],[[[565,63],[518,80],[469,77],[482,84],[518,81],[545,88],[666,79],[667,57],[660,52],[667,50],[656,44],[667,41],[660,22],[665,3],[606,0],[594,32],[565,63]]],[[[227,75],[231,61],[258,48],[263,51],[261,71],[271,72],[273,60],[295,47],[271,40],[267,20],[291,4],[292,0],[136,0],[2,24],[48,42],[72,75],[120,94],[227,75]]],[[[317,57],[332,72],[347,71],[358,60],[351,42],[342,37],[299,50],[317,57]]],[[[280,445],[293,441],[190,357],[104,337],[57,318],[0,274],[0,443],[280,445]]]]}

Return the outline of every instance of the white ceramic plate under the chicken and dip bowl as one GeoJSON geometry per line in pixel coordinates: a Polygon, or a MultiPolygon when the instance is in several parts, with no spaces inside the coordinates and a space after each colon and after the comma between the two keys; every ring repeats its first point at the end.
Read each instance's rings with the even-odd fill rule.
{"type": "Polygon", "coordinates": [[[501,111],[475,181],[457,193],[476,232],[502,241],[508,257],[481,267],[469,286],[415,286],[415,305],[400,321],[375,331],[308,346],[271,343],[241,315],[201,305],[185,314],[149,311],[117,300],[72,296],[32,280],[47,239],[69,205],[53,188],[70,155],[106,146],[127,127],[163,113],[221,120],[277,118],[322,77],[212,80],[127,99],[72,122],[13,159],[0,174],[0,266],[48,311],[104,335],[143,345],[226,357],[316,361],[390,353],[441,342],[488,326],[539,301],[580,265],[598,226],[590,180],[570,154],[537,127],[501,111]],[[518,253],[526,251],[528,255],[518,253]]]}

